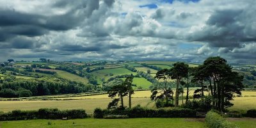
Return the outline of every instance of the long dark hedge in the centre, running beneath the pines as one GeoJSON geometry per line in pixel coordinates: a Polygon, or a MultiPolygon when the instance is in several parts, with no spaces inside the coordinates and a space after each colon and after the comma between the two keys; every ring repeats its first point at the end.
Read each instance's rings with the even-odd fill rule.
{"type": "Polygon", "coordinates": [[[94,118],[103,118],[107,115],[127,115],[129,118],[189,118],[196,117],[192,109],[147,109],[140,106],[127,109],[100,109],[94,111],[94,118]]]}

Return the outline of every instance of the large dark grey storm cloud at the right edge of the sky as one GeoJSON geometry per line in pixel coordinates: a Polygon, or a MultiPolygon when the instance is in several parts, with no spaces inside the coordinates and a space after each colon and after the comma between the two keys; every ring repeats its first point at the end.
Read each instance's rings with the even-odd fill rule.
{"type": "MultiPolygon", "coordinates": [[[[216,10],[207,20],[204,28],[189,36],[189,40],[209,42],[213,47],[241,47],[244,42],[255,42],[256,28],[253,28],[252,8],[244,10],[216,10]]],[[[256,11],[256,10],[255,10],[256,11]]]]}

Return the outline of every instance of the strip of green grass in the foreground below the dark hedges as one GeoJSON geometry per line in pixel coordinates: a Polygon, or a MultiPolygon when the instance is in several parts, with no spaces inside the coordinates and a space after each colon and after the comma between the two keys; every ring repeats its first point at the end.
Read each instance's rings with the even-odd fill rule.
{"type": "Polygon", "coordinates": [[[129,119],[76,119],[76,120],[22,120],[0,122],[0,127],[206,127],[204,122],[191,121],[186,118],[129,118],[129,119]],[[51,122],[51,125],[48,125],[51,122]]]}

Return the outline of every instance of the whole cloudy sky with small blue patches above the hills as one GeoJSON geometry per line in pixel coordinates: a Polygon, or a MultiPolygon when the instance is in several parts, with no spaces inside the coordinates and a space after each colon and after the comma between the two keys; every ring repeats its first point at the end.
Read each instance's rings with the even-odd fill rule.
{"type": "Polygon", "coordinates": [[[255,0],[0,0],[0,61],[256,63],[255,0]]]}

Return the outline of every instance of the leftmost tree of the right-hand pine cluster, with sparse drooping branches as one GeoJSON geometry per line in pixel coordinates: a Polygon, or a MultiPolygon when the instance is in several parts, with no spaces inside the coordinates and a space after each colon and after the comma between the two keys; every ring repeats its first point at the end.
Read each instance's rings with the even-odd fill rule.
{"type": "Polygon", "coordinates": [[[168,106],[168,101],[169,100],[173,101],[173,90],[172,90],[173,84],[171,82],[168,82],[168,79],[170,79],[170,70],[166,68],[159,70],[156,73],[155,78],[162,79],[163,82],[156,82],[153,84],[154,87],[151,90],[152,95],[150,96],[150,98],[152,100],[165,99],[166,100],[165,106],[168,106]],[[159,89],[161,89],[161,91],[158,91],[159,89]]]}

